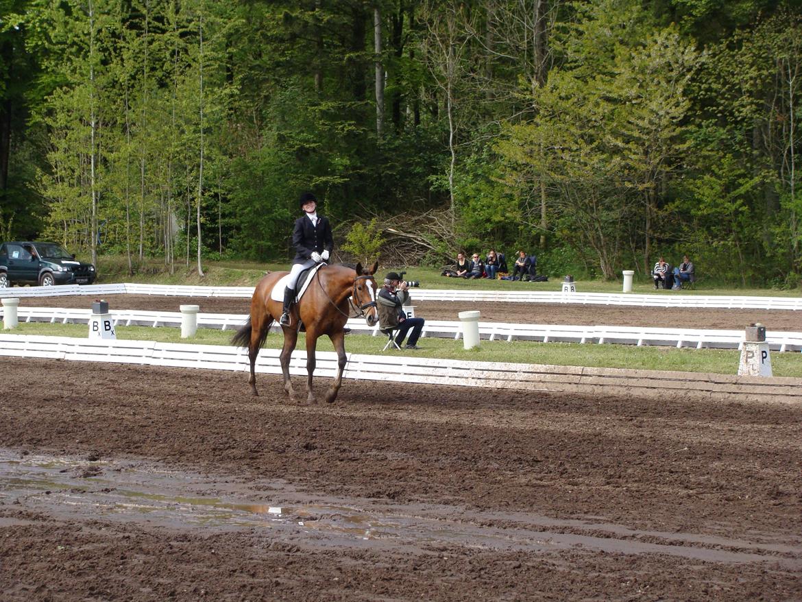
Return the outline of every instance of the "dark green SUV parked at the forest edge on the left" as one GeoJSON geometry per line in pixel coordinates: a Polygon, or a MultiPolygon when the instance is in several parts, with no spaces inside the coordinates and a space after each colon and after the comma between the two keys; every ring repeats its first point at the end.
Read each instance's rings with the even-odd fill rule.
{"type": "Polygon", "coordinates": [[[3,242],[0,245],[0,288],[14,284],[91,284],[95,266],[75,260],[55,242],[3,242]]]}

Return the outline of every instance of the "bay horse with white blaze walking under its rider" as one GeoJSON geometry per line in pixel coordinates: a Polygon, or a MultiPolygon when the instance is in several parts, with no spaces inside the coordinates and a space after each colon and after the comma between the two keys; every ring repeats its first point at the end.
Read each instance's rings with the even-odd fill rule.
{"type": "MultiPolygon", "coordinates": [[[[346,266],[321,266],[306,288],[302,298],[290,309],[290,324],[282,326],[284,346],[280,356],[284,375],[284,390],[291,398],[295,390],[290,380],[290,356],[298,343],[298,330],[303,324],[306,328],[306,401],[317,401],[312,392],[312,373],[315,365],[315,348],[318,338],[328,335],[337,351],[337,376],[326,391],[326,401],[332,402],[342,384],[342,371],[346,367],[345,333],[343,328],[354,307],[358,316],[364,316],[368,326],[375,326],[379,321],[376,307],[378,289],[373,277],[379,268],[375,262],[370,270],[361,263],[356,269],[346,266]],[[353,301],[351,301],[353,299],[353,301]]],[[[257,283],[251,298],[251,311],[248,321],[233,336],[232,343],[238,347],[247,347],[250,359],[250,378],[253,395],[256,389],[256,374],[253,370],[259,349],[265,343],[273,321],[278,322],[282,315],[282,302],[271,299],[273,287],[289,272],[272,272],[257,283]]],[[[301,287],[302,281],[298,281],[301,287]]],[[[283,284],[281,285],[284,286],[283,284]]]]}

